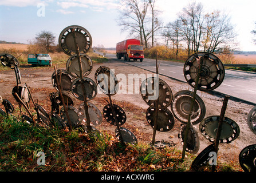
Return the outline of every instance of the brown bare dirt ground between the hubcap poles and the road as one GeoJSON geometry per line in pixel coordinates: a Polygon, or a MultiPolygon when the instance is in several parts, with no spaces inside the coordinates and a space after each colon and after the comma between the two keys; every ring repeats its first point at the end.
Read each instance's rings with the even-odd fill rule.
{"type": "MultiPolygon", "coordinates": [[[[88,75],[89,78],[92,78],[94,80],[94,73],[99,66],[100,65],[97,64],[93,66],[92,72],[88,75]]],[[[145,71],[138,67],[134,67],[126,63],[114,60],[105,62],[101,64],[101,66],[107,66],[111,69],[115,69],[116,74],[125,74],[127,77],[128,74],[152,74],[150,71],[145,71]]],[[[40,70],[33,69],[33,67],[21,68],[20,71],[22,83],[19,86],[23,86],[24,83],[27,83],[27,85],[31,89],[33,99],[35,101],[38,100],[38,103],[42,105],[46,110],[48,110],[48,112],[50,112],[49,94],[50,92],[56,92],[56,89],[54,89],[51,81],[51,76],[54,71],[53,67],[42,67],[42,69],[40,70]]],[[[192,88],[187,83],[178,82],[168,77],[164,77],[162,75],[160,75],[159,77],[166,81],[168,85],[170,85],[173,95],[176,92],[179,92],[180,90],[192,90],[192,88]]],[[[11,94],[11,90],[15,85],[16,79],[14,70],[0,72],[0,96],[2,98],[6,98],[7,100],[9,100],[11,104],[13,104],[15,108],[17,108],[18,104],[11,94]]],[[[135,91],[139,91],[140,86],[136,85],[134,87],[135,91]]],[[[197,94],[202,98],[204,104],[206,105],[205,117],[220,115],[220,109],[222,108],[223,98],[211,96],[210,94],[203,93],[200,91],[197,94]]],[[[107,98],[105,94],[98,93],[94,100],[90,102],[95,104],[102,112],[104,106],[107,104],[105,98],[107,98]]],[[[123,127],[131,130],[137,137],[138,142],[151,142],[153,130],[151,126],[148,124],[145,115],[148,109],[148,105],[143,101],[140,93],[117,93],[115,96],[112,96],[112,100],[115,100],[115,104],[120,105],[125,110],[125,113],[127,115],[127,121],[125,122],[123,127]]],[[[80,103],[78,102],[77,106],[80,103]]],[[[254,106],[229,100],[225,116],[237,122],[240,128],[240,135],[236,140],[234,140],[230,144],[219,145],[218,156],[220,157],[220,161],[238,162],[238,156],[241,150],[245,148],[247,145],[255,144],[256,136],[253,132],[250,131],[249,126],[247,125],[247,116],[253,107],[254,106]]],[[[0,104],[0,108],[3,109],[2,104],[0,104]]],[[[171,111],[170,106],[168,107],[168,109],[171,111]]],[[[18,114],[19,112],[17,112],[17,115],[18,114]]],[[[176,144],[175,146],[177,149],[182,150],[182,145],[180,144],[178,139],[180,124],[181,123],[175,119],[175,125],[174,128],[172,128],[172,130],[168,132],[156,132],[156,141],[172,141],[176,144]]],[[[204,148],[210,145],[211,142],[206,140],[206,138],[204,138],[203,135],[200,134],[199,124],[193,126],[199,134],[200,149],[199,152],[197,153],[199,154],[204,148]]],[[[107,130],[109,133],[112,134],[115,133],[115,126],[109,124],[105,120],[103,120],[103,122],[96,128],[100,130],[107,130]]]]}

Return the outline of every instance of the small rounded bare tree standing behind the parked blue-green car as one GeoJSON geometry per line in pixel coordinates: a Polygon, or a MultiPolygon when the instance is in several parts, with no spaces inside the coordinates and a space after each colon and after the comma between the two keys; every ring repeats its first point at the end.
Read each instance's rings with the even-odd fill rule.
{"type": "Polygon", "coordinates": [[[50,31],[41,31],[41,33],[37,34],[36,43],[44,48],[47,53],[51,50],[51,47],[54,45],[55,36],[50,31]]]}

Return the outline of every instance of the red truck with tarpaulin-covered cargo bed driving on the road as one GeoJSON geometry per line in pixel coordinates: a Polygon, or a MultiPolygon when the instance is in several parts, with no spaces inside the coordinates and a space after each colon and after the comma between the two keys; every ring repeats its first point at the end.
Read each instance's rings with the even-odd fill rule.
{"type": "Polygon", "coordinates": [[[125,41],[121,41],[116,43],[116,57],[121,59],[124,57],[125,61],[137,61],[140,59],[140,62],[143,61],[144,58],[144,48],[140,45],[140,40],[137,39],[127,39],[125,41]]]}

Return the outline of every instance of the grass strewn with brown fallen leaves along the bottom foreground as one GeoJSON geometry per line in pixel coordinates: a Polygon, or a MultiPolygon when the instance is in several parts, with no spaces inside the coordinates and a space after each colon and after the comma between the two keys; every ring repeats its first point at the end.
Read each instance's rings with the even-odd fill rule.
{"type": "MultiPolygon", "coordinates": [[[[0,171],[191,171],[195,156],[175,148],[152,148],[145,142],[122,145],[108,132],[89,135],[81,129],[72,132],[27,124],[0,116],[0,171]],[[39,152],[45,153],[45,165],[38,165],[39,152]]],[[[218,171],[241,171],[237,165],[221,164],[218,171]]],[[[209,165],[200,171],[211,171],[209,165]]]]}

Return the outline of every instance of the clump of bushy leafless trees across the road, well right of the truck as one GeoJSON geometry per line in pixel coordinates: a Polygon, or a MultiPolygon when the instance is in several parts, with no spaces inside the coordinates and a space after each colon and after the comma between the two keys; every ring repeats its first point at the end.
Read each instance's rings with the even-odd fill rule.
{"type": "Polygon", "coordinates": [[[199,49],[210,53],[222,53],[224,48],[237,49],[237,34],[228,15],[220,11],[204,14],[202,3],[193,2],[184,7],[178,17],[182,21],[188,56],[199,49]]]}

